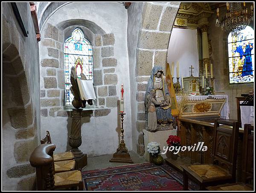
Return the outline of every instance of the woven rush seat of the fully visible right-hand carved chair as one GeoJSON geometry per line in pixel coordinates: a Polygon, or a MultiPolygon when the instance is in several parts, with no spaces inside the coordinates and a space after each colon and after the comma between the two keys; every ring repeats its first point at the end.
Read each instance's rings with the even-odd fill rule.
{"type": "Polygon", "coordinates": [[[190,165],[188,168],[200,177],[205,176],[206,178],[214,178],[228,175],[226,170],[213,164],[190,165]]]}

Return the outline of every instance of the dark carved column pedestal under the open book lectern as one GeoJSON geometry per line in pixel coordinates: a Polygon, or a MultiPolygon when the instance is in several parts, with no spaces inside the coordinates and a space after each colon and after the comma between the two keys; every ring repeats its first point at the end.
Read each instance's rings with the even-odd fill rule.
{"type": "Polygon", "coordinates": [[[72,147],[71,152],[74,154],[76,160],[76,170],[82,169],[87,165],[87,154],[84,154],[79,150],[79,146],[82,144],[81,136],[81,118],[83,109],[73,109],[71,112],[72,125],[69,138],[69,144],[72,147]]]}

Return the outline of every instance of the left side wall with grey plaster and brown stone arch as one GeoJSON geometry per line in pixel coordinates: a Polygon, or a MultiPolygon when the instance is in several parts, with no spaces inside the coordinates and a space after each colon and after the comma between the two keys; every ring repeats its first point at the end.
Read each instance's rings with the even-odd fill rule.
{"type": "Polygon", "coordinates": [[[40,138],[39,50],[29,3],[19,3],[26,18],[23,35],[11,3],[2,12],[2,188],[35,190],[35,168],[29,163],[40,138]]]}

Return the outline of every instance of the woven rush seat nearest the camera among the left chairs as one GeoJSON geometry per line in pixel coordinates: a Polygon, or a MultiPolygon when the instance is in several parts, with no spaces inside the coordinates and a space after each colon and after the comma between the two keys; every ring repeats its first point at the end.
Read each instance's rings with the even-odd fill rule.
{"type": "Polygon", "coordinates": [[[79,184],[82,181],[82,173],[79,170],[56,173],[54,175],[55,187],[70,184],[79,184]]]}

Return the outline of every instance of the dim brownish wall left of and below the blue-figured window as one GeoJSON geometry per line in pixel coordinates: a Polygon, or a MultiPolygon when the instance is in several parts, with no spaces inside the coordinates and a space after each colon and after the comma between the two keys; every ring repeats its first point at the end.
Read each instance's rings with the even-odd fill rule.
{"type": "MultiPolygon", "coordinates": [[[[247,3],[249,4],[249,3],[247,3]]],[[[250,8],[248,8],[250,10],[250,8]]],[[[220,8],[220,18],[224,17],[226,7],[220,8]]],[[[208,39],[212,44],[212,64],[213,74],[215,75],[215,92],[224,92],[229,96],[228,103],[230,108],[230,119],[237,119],[236,97],[241,94],[253,91],[253,83],[248,84],[229,84],[229,63],[228,63],[228,33],[215,26],[216,15],[212,14],[209,20],[208,39]]],[[[254,29],[253,22],[250,26],[254,29]]]]}

